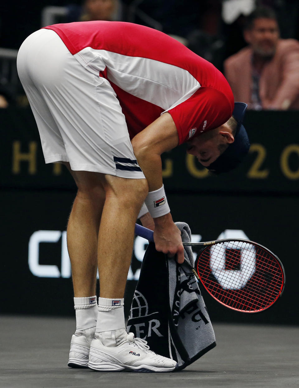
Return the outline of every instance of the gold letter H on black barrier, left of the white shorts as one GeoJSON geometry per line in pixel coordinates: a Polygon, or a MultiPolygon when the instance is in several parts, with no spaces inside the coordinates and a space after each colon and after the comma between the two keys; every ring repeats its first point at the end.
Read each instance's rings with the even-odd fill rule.
{"type": "Polygon", "coordinates": [[[12,173],[21,172],[21,162],[28,162],[28,173],[36,174],[36,150],[37,142],[29,142],[29,152],[21,152],[21,142],[15,140],[12,144],[12,173]]]}

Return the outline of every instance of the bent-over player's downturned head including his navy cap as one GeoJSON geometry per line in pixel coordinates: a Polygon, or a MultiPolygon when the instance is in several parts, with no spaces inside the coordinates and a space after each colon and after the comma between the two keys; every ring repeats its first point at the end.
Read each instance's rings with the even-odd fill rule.
{"type": "Polygon", "coordinates": [[[217,174],[230,171],[249,151],[249,140],[242,121],[247,108],[244,102],[235,102],[232,117],[214,130],[201,133],[187,142],[187,153],[217,174]]]}

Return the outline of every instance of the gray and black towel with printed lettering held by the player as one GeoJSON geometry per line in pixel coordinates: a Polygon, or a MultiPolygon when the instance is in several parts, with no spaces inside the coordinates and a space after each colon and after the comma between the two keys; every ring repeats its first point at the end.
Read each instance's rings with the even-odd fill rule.
{"type": "MultiPolygon", "coordinates": [[[[191,240],[189,226],[177,222],[182,241],[191,240]]],[[[183,264],[157,252],[151,242],[144,255],[132,301],[127,331],[148,341],[151,350],[184,369],[216,346],[213,327],[190,265],[191,247],[183,264]],[[187,263],[186,263],[187,262],[187,263]]]]}

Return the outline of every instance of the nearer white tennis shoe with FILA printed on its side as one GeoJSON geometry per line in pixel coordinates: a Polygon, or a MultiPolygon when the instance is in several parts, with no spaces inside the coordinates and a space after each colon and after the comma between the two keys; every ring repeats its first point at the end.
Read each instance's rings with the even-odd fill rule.
{"type": "Polygon", "coordinates": [[[176,366],[176,361],[152,352],[133,333],[115,347],[104,346],[99,338],[90,346],[88,367],[94,371],[172,372],[176,366]]]}

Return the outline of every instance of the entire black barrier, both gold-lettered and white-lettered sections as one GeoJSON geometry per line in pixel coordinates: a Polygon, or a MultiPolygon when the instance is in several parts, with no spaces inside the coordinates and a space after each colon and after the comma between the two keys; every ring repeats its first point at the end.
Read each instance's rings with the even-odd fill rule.
{"type": "MultiPolygon", "coordinates": [[[[298,112],[248,112],[251,152],[237,171],[213,177],[180,149],[163,156],[163,176],[175,221],[194,239],[245,234],[285,265],[284,295],[260,314],[230,311],[204,294],[214,320],[299,324],[296,249],[299,207],[298,112]]],[[[74,315],[66,223],[76,188],[60,164],[45,165],[29,109],[0,110],[2,313],[74,315]]],[[[182,148],[182,147],[181,147],[182,148]]],[[[243,235],[244,237],[244,235],[243,235]]],[[[146,241],[136,239],[129,270],[128,313],[146,241]]],[[[120,252],[121,255],[121,252],[120,252]]],[[[203,292],[204,293],[204,292],[203,292]]]]}

